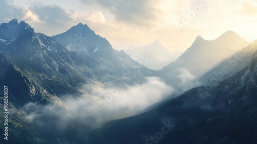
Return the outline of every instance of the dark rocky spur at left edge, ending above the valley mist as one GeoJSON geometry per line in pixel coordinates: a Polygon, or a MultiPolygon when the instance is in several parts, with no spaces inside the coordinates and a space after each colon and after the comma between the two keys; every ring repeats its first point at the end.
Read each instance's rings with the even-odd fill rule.
{"type": "Polygon", "coordinates": [[[47,89],[48,87],[42,87],[31,80],[19,68],[9,62],[1,52],[0,61],[0,85],[1,87],[8,86],[9,100],[11,102],[23,106],[29,101],[41,103],[58,101],[56,95],[47,89]]]}

